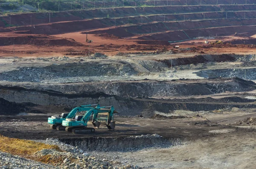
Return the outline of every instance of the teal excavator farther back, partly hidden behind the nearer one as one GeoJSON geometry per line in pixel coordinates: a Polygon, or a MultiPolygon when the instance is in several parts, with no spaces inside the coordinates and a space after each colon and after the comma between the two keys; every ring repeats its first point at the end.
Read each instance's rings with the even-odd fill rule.
{"type": "Polygon", "coordinates": [[[73,119],[77,112],[88,111],[94,107],[99,107],[99,104],[89,104],[84,106],[79,106],[71,110],[70,113],[62,113],[58,116],[52,116],[48,118],[48,123],[51,124],[51,129],[65,130],[66,127],[62,126],[62,121],[65,119],[73,119]]]}

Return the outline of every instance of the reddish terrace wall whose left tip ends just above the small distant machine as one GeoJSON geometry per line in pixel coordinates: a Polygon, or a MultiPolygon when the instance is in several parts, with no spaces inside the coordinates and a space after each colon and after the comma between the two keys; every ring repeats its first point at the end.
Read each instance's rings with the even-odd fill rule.
{"type": "MultiPolygon", "coordinates": [[[[213,19],[213,20],[196,20],[196,21],[182,21],[182,22],[158,22],[148,23],[143,25],[117,27],[107,30],[91,31],[90,34],[113,34],[117,37],[131,37],[134,34],[151,34],[157,32],[177,31],[186,29],[209,29],[223,26],[250,26],[256,25],[255,19],[213,19]]],[[[194,35],[195,36],[195,35],[194,35]]],[[[198,37],[198,34],[196,35],[198,37]]],[[[186,37],[188,38],[188,37],[186,37]]]]}

